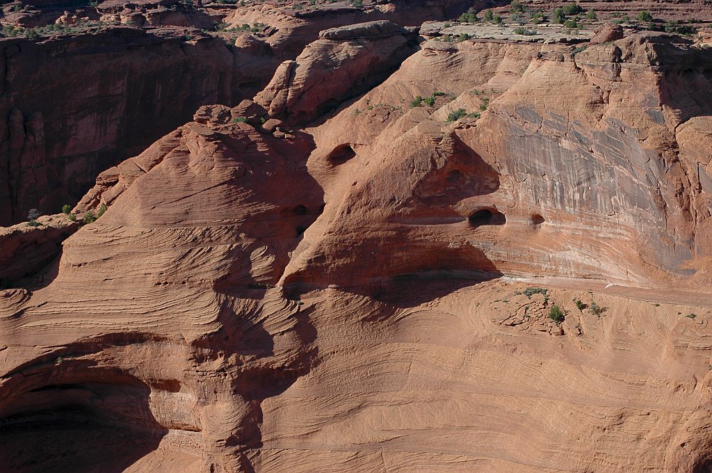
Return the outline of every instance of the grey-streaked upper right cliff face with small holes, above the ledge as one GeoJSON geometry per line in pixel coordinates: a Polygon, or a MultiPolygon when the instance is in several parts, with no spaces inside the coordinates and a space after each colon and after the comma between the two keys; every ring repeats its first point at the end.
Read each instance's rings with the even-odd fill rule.
{"type": "MultiPolygon", "coordinates": [[[[431,41],[315,129],[310,162],[324,175],[328,231],[317,222],[308,232],[285,284],[480,269],[709,286],[698,266],[711,237],[701,183],[709,155],[681,152],[676,130],[712,106],[696,99],[712,57],[654,34],[570,51],[431,41]],[[429,120],[426,108],[402,105],[436,88],[459,97],[429,120]],[[368,104],[379,105],[354,113],[368,104]],[[487,111],[476,122],[442,123],[480,105],[487,111]],[[355,234],[354,225],[377,230],[355,234]],[[355,247],[390,251],[371,261],[355,247]]],[[[687,136],[705,128],[696,121],[682,128],[687,136]]]]}

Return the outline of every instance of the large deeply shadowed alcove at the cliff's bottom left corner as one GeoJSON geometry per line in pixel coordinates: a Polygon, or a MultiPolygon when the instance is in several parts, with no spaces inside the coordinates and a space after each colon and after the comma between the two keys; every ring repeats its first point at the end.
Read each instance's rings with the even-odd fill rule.
{"type": "Polygon", "coordinates": [[[0,402],[2,471],[123,471],[167,433],[148,385],[115,369],[33,373],[15,388],[0,402]]]}

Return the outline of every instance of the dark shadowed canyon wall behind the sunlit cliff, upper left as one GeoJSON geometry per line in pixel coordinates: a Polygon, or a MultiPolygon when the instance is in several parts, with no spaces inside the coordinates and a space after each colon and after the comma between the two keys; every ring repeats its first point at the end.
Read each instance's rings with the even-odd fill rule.
{"type": "Polygon", "coordinates": [[[110,28],[0,41],[0,224],[77,202],[98,172],[204,103],[252,96],[276,66],[268,49],[246,40],[231,49],[217,38],[170,35],[110,28]]]}

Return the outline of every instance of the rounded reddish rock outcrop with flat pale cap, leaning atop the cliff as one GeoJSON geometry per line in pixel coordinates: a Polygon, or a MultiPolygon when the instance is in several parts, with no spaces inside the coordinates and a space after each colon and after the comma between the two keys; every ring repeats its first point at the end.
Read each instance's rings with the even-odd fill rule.
{"type": "Polygon", "coordinates": [[[415,46],[390,21],[325,30],[298,58],[282,63],[255,100],[273,118],[309,123],[387,78],[415,46]]]}

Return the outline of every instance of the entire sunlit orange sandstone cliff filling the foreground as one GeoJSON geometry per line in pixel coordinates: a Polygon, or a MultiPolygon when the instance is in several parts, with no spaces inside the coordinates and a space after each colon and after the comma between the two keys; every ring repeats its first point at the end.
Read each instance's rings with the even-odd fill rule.
{"type": "MultiPolygon", "coordinates": [[[[75,231],[0,291],[0,464],[712,468],[711,50],[434,28],[360,98],[311,85],[379,25],[100,172],[96,222],[0,232],[21,268],[75,231]]],[[[48,139],[14,117],[9,156],[48,139]]]]}

